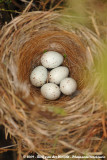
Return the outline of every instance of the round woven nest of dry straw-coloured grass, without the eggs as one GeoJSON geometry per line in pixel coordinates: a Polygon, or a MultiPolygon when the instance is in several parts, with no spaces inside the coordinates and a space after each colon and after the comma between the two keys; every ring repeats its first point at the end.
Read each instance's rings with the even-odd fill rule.
{"type": "Polygon", "coordinates": [[[94,61],[100,63],[97,36],[83,26],[61,24],[60,14],[29,12],[0,32],[0,121],[21,154],[101,154],[102,94],[94,61]],[[78,84],[72,96],[44,99],[29,75],[45,51],[64,58],[78,84]]]}

